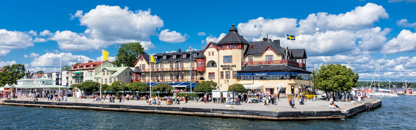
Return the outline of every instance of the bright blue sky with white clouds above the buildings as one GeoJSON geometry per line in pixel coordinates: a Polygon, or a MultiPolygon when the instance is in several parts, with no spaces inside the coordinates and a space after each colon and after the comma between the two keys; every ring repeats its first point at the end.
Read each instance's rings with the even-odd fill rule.
{"type": "Polygon", "coordinates": [[[305,48],[308,67],[340,63],[371,81],[379,63],[380,81],[416,81],[416,0],[9,0],[0,12],[0,67],[58,71],[61,56],[61,66],[100,61],[102,49],[113,61],[126,42],[203,50],[235,24],[247,41],[294,35],[287,47],[305,48]]]}

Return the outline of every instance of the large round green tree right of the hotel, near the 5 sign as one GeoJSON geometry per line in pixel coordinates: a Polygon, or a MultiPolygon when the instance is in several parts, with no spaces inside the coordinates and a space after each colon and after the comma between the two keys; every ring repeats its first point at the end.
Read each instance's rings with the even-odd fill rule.
{"type": "Polygon", "coordinates": [[[316,71],[315,87],[319,90],[325,92],[349,91],[351,87],[358,86],[358,73],[345,65],[322,65],[316,71]]]}

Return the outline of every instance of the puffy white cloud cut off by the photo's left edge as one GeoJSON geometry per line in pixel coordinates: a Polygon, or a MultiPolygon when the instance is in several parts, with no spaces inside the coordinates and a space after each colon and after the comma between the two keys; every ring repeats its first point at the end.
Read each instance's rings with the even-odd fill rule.
{"type": "Polygon", "coordinates": [[[0,29],[0,56],[13,49],[26,49],[33,46],[32,37],[27,32],[0,29]]]}

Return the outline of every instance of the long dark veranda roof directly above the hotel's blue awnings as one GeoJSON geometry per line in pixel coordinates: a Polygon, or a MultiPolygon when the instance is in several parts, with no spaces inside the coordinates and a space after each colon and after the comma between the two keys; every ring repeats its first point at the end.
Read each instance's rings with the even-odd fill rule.
{"type": "Polygon", "coordinates": [[[260,66],[243,66],[239,72],[281,72],[281,71],[299,71],[312,73],[307,70],[293,67],[290,65],[260,65],[260,66]]]}

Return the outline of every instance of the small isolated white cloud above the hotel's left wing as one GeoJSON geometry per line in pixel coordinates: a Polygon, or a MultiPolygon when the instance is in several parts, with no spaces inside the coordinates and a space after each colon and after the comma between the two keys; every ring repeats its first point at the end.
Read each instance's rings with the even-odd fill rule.
{"type": "Polygon", "coordinates": [[[188,38],[188,35],[183,34],[181,35],[181,33],[176,32],[176,31],[171,31],[169,32],[168,29],[162,30],[159,34],[159,40],[161,41],[165,41],[165,42],[171,42],[171,43],[179,43],[179,42],[185,42],[188,38]]]}

